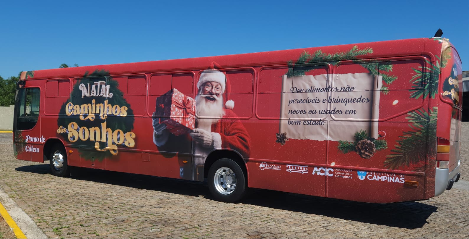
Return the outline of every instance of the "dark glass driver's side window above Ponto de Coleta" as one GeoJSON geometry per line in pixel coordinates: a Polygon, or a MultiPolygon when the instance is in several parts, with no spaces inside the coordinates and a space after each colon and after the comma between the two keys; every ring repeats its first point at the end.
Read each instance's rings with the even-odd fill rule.
{"type": "Polygon", "coordinates": [[[39,88],[21,89],[16,130],[30,130],[38,123],[40,90],[39,88]]]}

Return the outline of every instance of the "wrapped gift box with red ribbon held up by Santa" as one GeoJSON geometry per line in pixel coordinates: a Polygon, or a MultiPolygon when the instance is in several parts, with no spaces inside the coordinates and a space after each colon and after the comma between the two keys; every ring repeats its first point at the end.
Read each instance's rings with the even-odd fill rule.
{"type": "Polygon", "coordinates": [[[165,123],[166,129],[176,136],[190,133],[195,127],[194,99],[175,88],[156,98],[155,112],[161,116],[159,123],[165,123]]]}

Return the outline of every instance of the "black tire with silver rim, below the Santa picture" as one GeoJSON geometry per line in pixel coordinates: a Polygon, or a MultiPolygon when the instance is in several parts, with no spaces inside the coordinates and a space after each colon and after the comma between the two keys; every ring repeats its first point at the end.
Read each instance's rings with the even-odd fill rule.
{"type": "Polygon", "coordinates": [[[219,159],[212,164],[208,172],[208,189],[216,200],[241,200],[248,191],[246,176],[238,163],[231,159],[219,159]]]}

